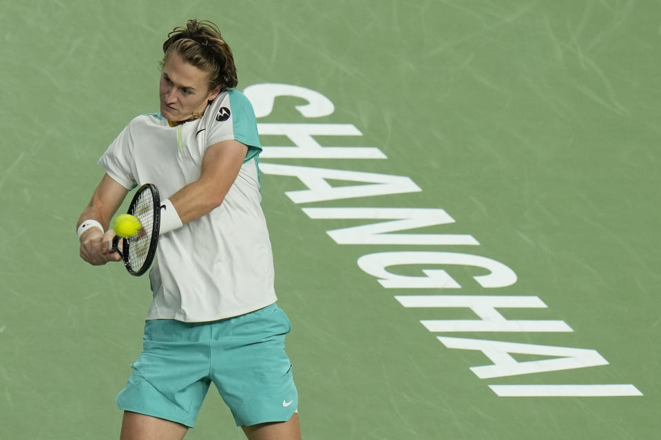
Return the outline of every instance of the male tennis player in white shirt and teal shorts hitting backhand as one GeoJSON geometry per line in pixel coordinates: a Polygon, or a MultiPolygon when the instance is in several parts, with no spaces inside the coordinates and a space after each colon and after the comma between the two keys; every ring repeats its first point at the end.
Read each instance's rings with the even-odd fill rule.
{"type": "Polygon", "coordinates": [[[156,184],[165,199],[144,349],[117,397],[120,438],[182,439],[213,382],[249,439],[300,439],[253,109],[213,23],[175,28],[163,50],[160,113],[134,118],[107,148],[78,221],[81,257],[103,265],[120,259],[107,229],[129,189],[156,184]]]}

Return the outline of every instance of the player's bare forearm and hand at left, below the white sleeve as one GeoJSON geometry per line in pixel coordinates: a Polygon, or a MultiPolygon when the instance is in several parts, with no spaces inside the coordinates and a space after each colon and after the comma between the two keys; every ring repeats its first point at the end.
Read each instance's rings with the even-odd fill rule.
{"type": "Polygon", "coordinates": [[[101,223],[103,233],[99,228],[90,227],[81,234],[81,258],[92,265],[104,265],[108,261],[119,261],[120,256],[109,250],[110,243],[115,236],[109,230],[110,219],[120,207],[129,190],[118,184],[109,175],[104,175],[96,186],[94,194],[87,208],[83,210],[78,219],[78,226],[84,221],[94,220],[101,223]]]}

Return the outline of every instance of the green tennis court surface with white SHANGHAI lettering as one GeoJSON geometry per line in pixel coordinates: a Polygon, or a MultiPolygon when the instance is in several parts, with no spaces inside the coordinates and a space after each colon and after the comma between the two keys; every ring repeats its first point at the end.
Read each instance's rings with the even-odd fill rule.
{"type": "Polygon", "coordinates": [[[149,281],[75,223],[193,17],[260,100],[304,438],[659,438],[658,2],[0,6],[0,439],[118,438],[149,281]]]}

